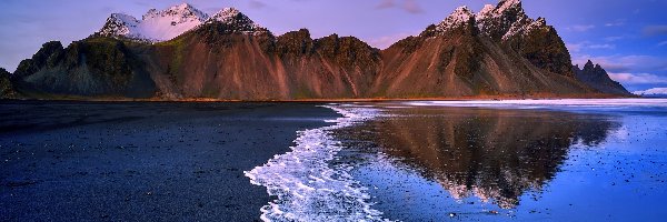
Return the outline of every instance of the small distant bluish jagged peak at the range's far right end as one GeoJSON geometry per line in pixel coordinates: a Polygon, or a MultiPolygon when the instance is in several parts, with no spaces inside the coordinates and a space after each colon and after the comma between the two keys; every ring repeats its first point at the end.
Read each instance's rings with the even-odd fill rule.
{"type": "Polygon", "coordinates": [[[590,60],[586,62],[584,69],[579,69],[579,65],[573,65],[573,71],[579,81],[603,93],[633,95],[633,93],[628,92],[620,83],[611,80],[605,69],[599,64],[594,65],[590,60]]]}

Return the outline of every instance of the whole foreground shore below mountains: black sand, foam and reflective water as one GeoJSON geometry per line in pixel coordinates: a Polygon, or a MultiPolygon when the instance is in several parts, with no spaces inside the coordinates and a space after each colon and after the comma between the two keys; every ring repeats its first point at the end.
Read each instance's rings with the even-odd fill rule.
{"type": "Polygon", "coordinates": [[[666,100],[0,107],[0,221],[667,216],[666,100]]]}

